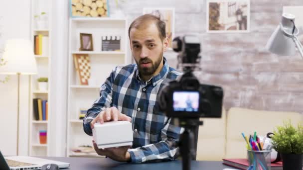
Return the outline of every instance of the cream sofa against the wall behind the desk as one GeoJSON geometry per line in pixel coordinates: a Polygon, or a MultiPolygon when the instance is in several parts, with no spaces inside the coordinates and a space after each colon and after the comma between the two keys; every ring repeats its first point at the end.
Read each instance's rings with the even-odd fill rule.
{"type": "Polygon", "coordinates": [[[221,118],[204,118],[199,127],[197,157],[199,161],[221,161],[223,158],[246,158],[246,143],[241,135],[266,135],[276,126],[291,120],[294,126],[303,122],[298,112],[263,111],[232,107],[222,111],[221,118]]]}

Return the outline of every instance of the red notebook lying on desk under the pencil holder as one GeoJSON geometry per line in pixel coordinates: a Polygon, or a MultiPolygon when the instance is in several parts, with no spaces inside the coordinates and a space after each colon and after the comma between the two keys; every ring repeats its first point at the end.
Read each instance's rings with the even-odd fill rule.
{"type": "MultiPolygon", "coordinates": [[[[223,164],[241,170],[247,170],[249,167],[247,159],[223,159],[223,164]]],[[[272,163],[271,170],[283,170],[282,162],[272,163]]]]}

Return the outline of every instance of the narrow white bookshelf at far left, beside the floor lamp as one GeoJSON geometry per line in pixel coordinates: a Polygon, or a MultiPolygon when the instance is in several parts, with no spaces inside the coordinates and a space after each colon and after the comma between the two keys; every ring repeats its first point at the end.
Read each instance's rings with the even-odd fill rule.
{"type": "MultiPolygon", "coordinates": [[[[31,78],[31,96],[30,96],[30,124],[29,124],[29,146],[28,151],[30,156],[49,156],[49,121],[47,120],[35,120],[33,111],[33,99],[41,98],[42,100],[48,101],[48,118],[50,116],[50,103],[49,103],[49,85],[50,85],[50,64],[51,64],[51,54],[50,54],[50,42],[51,42],[51,0],[30,0],[31,2],[31,40],[34,49],[34,35],[42,34],[43,36],[48,36],[48,53],[42,52],[43,55],[35,55],[37,63],[37,75],[31,78]],[[41,12],[46,12],[47,15],[47,27],[38,28],[35,22],[35,15],[41,12]],[[37,79],[40,77],[48,78],[48,89],[39,90],[37,79]],[[47,143],[40,144],[39,142],[39,131],[47,131],[47,143]]],[[[42,49],[43,51],[43,49],[42,49]]]]}

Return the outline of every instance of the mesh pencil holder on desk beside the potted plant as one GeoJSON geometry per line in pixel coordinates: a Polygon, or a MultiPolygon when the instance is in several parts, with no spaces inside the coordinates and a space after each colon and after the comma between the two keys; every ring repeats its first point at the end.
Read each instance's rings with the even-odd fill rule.
{"type": "Polygon", "coordinates": [[[247,151],[249,166],[252,170],[271,170],[271,150],[247,151]]]}

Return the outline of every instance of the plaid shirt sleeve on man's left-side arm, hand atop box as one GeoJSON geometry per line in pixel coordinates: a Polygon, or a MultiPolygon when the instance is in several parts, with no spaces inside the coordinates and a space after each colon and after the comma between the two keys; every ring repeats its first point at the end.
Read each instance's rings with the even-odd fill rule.
{"type": "MultiPolygon", "coordinates": [[[[117,69],[117,68],[116,68],[117,69]]],[[[100,87],[99,98],[93,103],[92,107],[87,110],[87,113],[83,119],[84,132],[92,136],[93,132],[90,126],[91,121],[107,107],[112,107],[112,90],[113,82],[115,79],[116,69],[112,71],[110,76],[106,79],[105,83],[100,87]]]]}

